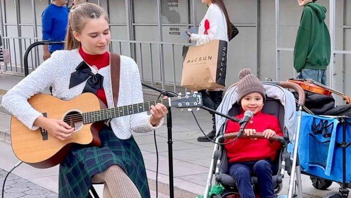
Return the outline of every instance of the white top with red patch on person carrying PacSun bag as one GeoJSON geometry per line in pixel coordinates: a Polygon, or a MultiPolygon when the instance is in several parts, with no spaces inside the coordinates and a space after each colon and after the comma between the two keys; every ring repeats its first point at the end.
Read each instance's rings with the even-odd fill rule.
{"type": "Polygon", "coordinates": [[[225,40],[228,42],[227,23],[223,11],[216,5],[211,4],[205,17],[202,19],[198,34],[191,34],[191,40],[196,41],[196,45],[203,45],[213,39],[225,40]],[[210,28],[205,34],[205,21],[208,20],[210,28]]]}

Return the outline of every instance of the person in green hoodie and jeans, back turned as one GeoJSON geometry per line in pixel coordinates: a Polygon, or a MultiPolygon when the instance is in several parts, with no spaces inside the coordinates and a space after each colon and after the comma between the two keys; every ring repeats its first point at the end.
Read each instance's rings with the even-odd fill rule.
{"type": "Polygon", "coordinates": [[[317,0],[297,0],[304,6],[294,49],[294,67],[301,79],[313,79],[326,85],[330,62],[330,35],[325,25],[327,9],[317,0]]]}

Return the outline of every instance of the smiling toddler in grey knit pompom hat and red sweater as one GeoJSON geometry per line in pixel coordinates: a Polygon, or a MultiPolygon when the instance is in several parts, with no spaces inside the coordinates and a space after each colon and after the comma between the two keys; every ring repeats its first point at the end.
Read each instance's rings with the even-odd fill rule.
{"type": "MultiPolygon", "coordinates": [[[[243,69],[239,73],[237,103],[241,106],[241,113],[237,119],[244,117],[244,112],[251,111],[254,116],[247,123],[243,135],[252,136],[262,133],[265,138],[239,138],[224,140],[226,157],[228,159],[228,173],[235,180],[241,197],[255,198],[251,186],[251,176],[258,180],[260,196],[262,198],[274,197],[272,179],[272,162],[276,158],[277,151],[281,149],[281,143],[271,141],[269,137],[282,136],[278,118],[262,113],[266,100],[263,84],[249,69],[243,69]]],[[[226,123],[225,134],[237,132],[240,125],[229,120],[226,123]]]]}

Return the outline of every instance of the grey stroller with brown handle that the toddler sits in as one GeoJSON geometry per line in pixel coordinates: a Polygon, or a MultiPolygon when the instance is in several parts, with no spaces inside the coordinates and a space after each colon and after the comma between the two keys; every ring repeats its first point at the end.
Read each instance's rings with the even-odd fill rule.
{"type": "MultiPolygon", "coordinates": [[[[301,190],[301,175],[300,169],[297,165],[297,152],[294,152],[294,157],[291,157],[290,153],[286,152],[286,145],[289,142],[298,142],[296,135],[299,133],[297,129],[300,128],[301,113],[302,107],[305,101],[304,90],[294,84],[289,82],[262,82],[265,88],[266,93],[266,102],[264,108],[262,109],[263,113],[274,115],[278,118],[281,131],[283,132],[283,137],[274,136],[271,140],[282,142],[283,146],[280,152],[278,152],[276,159],[273,162],[273,186],[275,193],[278,193],[282,188],[282,179],[284,177],[285,170],[288,174],[291,174],[288,197],[298,196],[302,197],[301,190]],[[284,88],[290,88],[296,90],[299,94],[299,112],[296,114],[296,105],[295,98],[292,93],[284,88]],[[300,97],[301,96],[301,97],[300,97]],[[296,173],[296,180],[295,180],[296,173]]],[[[228,115],[236,116],[239,114],[239,105],[237,101],[237,84],[231,85],[224,97],[223,101],[218,107],[217,111],[228,115]]],[[[225,124],[227,119],[216,115],[216,143],[222,143],[224,139],[235,138],[237,133],[230,133],[223,135],[225,131],[225,124]]],[[[262,138],[262,133],[256,134],[254,137],[262,138]]],[[[252,136],[250,136],[252,137],[252,136]]],[[[297,136],[298,137],[298,136],[297,136]]],[[[244,138],[244,137],[240,137],[244,138]]],[[[297,151],[297,144],[295,145],[295,150],[297,151]]],[[[226,158],[225,150],[223,145],[215,144],[212,160],[210,164],[210,169],[207,178],[207,184],[204,191],[204,198],[207,197],[226,197],[230,194],[239,194],[239,191],[236,187],[235,180],[228,175],[228,161],[226,158]],[[223,186],[224,194],[210,194],[212,187],[213,175],[215,176],[215,185],[214,186],[223,186]]],[[[254,191],[257,191],[255,185],[257,186],[257,177],[254,175],[251,178],[252,186],[254,191]]]]}

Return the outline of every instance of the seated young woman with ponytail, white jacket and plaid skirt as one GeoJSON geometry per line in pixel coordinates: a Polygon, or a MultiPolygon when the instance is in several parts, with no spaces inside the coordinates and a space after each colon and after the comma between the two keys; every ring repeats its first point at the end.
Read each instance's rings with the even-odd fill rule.
{"type": "MultiPolygon", "coordinates": [[[[73,7],[65,50],[54,52],[9,90],[3,97],[3,106],[31,130],[45,129],[49,139],[72,138],[74,127],[63,120],[44,117],[27,100],[52,86],[53,96],[64,101],[92,92],[109,108],[117,105],[112,98],[111,54],[107,52],[110,39],[108,18],[102,8],[91,3],[73,7]]],[[[118,106],[142,103],[137,64],[126,56],[120,56],[120,63],[118,106]]],[[[167,108],[156,104],[150,112],[151,115],[144,112],[111,119],[110,126],[105,125],[99,132],[100,147],[71,147],[60,164],[59,197],[87,197],[92,181],[105,184],[104,197],[150,197],[143,158],[132,136],[132,131],[147,132],[162,125],[167,108]]]]}

